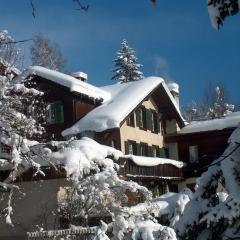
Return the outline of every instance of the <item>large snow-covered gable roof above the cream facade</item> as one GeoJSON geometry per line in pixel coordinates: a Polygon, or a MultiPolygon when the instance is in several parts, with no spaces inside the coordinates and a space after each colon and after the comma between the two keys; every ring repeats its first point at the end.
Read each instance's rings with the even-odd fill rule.
{"type": "Polygon", "coordinates": [[[64,130],[62,135],[75,135],[84,131],[102,132],[107,129],[119,128],[121,122],[128,114],[160,85],[163,86],[174,108],[181,117],[179,108],[164,80],[159,77],[147,77],[139,81],[117,83],[102,87],[101,89],[104,92],[108,92],[111,97],[105,100],[101,106],[89,112],[72,127],[64,130]]]}

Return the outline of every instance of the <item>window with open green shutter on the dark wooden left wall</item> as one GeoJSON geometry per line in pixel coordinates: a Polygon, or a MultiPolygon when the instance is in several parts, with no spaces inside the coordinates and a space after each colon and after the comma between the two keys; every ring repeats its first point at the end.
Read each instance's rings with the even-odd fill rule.
{"type": "Polygon", "coordinates": [[[47,122],[49,124],[64,122],[62,101],[54,102],[47,106],[47,122]]]}

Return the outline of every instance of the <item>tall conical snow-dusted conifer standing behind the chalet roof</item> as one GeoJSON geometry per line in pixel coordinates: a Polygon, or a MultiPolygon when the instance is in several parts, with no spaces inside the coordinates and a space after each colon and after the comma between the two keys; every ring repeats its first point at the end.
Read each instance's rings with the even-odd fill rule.
{"type": "Polygon", "coordinates": [[[123,39],[121,46],[114,60],[115,69],[112,79],[120,83],[141,80],[143,73],[139,71],[141,65],[137,63],[135,51],[128,46],[126,39],[123,39]]]}

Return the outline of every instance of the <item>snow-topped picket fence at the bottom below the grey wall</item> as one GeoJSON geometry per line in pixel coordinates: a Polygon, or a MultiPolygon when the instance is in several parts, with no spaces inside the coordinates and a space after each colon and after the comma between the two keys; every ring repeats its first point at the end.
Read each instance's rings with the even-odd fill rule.
{"type": "Polygon", "coordinates": [[[28,232],[28,240],[92,240],[97,227],[28,232]]]}

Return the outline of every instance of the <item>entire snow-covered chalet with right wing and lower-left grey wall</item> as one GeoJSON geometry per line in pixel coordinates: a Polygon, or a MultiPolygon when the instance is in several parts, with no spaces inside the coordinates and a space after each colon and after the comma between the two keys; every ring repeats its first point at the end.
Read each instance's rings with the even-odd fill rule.
{"type": "MultiPolygon", "coordinates": [[[[49,139],[88,136],[121,150],[125,155],[119,174],[147,186],[154,195],[192,188],[200,172],[222,154],[240,122],[240,114],[233,113],[186,126],[178,86],[158,77],[95,87],[84,73],[63,74],[38,66],[18,77],[45,92],[49,139]]],[[[1,151],[3,156],[10,150],[2,145],[1,151]]],[[[52,210],[69,182],[49,167],[44,172],[41,179],[29,172],[21,176],[17,184],[28,194],[14,199],[14,220],[19,224],[12,229],[0,219],[0,239],[26,239],[26,231],[36,225],[56,229],[52,210]]]]}

